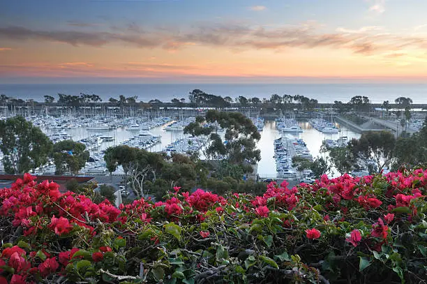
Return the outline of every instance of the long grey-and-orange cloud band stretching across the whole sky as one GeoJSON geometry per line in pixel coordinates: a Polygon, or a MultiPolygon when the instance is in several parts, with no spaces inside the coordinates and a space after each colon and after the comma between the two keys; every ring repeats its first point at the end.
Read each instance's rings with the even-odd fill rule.
{"type": "Polygon", "coordinates": [[[340,27],[324,33],[315,22],[299,25],[263,27],[250,24],[204,23],[186,29],[151,29],[143,33],[133,31],[58,31],[36,30],[26,27],[0,27],[0,40],[38,40],[66,43],[73,46],[103,47],[120,44],[139,48],[160,47],[176,51],[197,45],[224,47],[230,50],[276,50],[287,48],[331,48],[349,50],[356,54],[382,54],[404,49],[425,50],[427,38],[408,34],[384,32],[382,27],[360,29],[340,27]]]}

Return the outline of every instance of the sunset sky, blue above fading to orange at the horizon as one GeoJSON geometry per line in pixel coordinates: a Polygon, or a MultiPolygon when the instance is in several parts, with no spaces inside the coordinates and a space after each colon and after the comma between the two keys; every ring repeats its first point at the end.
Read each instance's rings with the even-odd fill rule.
{"type": "Polygon", "coordinates": [[[424,82],[426,0],[0,0],[0,82],[424,82]]]}

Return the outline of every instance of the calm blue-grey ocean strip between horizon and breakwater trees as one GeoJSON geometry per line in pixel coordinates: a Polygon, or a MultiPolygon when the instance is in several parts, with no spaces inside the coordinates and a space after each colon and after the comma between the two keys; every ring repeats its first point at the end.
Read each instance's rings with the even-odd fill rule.
{"type": "Polygon", "coordinates": [[[236,98],[270,98],[271,94],[283,96],[301,95],[315,98],[319,103],[347,103],[353,96],[367,96],[371,103],[389,100],[394,103],[398,97],[412,98],[415,104],[427,104],[427,84],[0,84],[0,94],[23,100],[44,101],[43,96],[57,98],[57,94],[96,94],[103,99],[110,97],[137,96],[138,101],[148,102],[157,98],[169,102],[172,98],[185,98],[193,89],[208,94],[236,98]]]}

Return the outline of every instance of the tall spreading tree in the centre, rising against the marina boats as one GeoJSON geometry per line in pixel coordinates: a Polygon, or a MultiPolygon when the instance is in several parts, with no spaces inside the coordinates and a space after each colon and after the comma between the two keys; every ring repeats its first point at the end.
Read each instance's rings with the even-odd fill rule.
{"type": "Polygon", "coordinates": [[[218,112],[209,110],[206,117],[198,117],[197,121],[184,128],[184,133],[201,136],[207,139],[202,147],[204,156],[211,160],[227,159],[230,163],[255,165],[260,160],[260,150],[256,149],[256,142],[260,140],[260,133],[253,121],[239,112],[218,112]],[[217,122],[225,129],[225,140],[216,133],[212,126],[204,127],[204,122],[217,122]]]}

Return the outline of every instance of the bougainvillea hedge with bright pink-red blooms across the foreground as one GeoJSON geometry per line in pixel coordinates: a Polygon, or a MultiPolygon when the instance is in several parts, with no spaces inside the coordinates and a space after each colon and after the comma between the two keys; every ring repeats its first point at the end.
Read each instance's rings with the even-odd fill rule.
{"type": "Polygon", "coordinates": [[[0,190],[0,284],[427,281],[427,171],[287,186],[116,208],[25,174],[0,190]]]}

